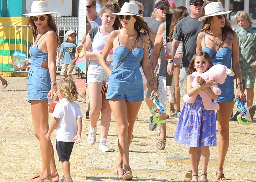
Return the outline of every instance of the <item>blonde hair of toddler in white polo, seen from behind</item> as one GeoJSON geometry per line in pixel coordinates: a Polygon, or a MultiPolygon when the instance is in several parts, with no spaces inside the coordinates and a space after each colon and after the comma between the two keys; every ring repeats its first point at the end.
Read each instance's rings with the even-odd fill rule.
{"type": "Polygon", "coordinates": [[[78,92],[76,91],[76,84],[71,78],[65,78],[58,83],[59,91],[64,95],[64,98],[69,102],[78,99],[78,92]]]}

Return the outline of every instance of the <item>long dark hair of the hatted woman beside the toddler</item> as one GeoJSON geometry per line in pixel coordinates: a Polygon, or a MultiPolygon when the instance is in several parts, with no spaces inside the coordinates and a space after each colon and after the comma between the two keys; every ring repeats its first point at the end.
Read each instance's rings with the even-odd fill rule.
{"type": "MultiPolygon", "coordinates": [[[[51,14],[48,14],[46,16],[48,16],[48,26],[56,33],[57,46],[60,47],[61,41],[60,41],[60,37],[58,36],[58,33],[57,33],[57,26],[55,24],[55,21],[51,14]]],[[[33,35],[34,39],[36,39],[37,35],[38,35],[38,30],[37,30],[37,26],[35,25],[35,22],[33,21],[33,16],[30,16],[29,20],[27,21],[27,26],[32,30],[32,35],[33,35]]]]}

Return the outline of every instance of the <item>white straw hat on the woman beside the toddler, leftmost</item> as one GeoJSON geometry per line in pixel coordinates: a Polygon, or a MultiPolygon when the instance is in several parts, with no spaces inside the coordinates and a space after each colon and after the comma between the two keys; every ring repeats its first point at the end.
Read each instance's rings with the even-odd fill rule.
{"type": "Polygon", "coordinates": [[[45,0],[35,0],[31,4],[30,13],[23,14],[25,16],[40,16],[47,14],[54,14],[56,12],[49,12],[48,4],[45,0]]]}

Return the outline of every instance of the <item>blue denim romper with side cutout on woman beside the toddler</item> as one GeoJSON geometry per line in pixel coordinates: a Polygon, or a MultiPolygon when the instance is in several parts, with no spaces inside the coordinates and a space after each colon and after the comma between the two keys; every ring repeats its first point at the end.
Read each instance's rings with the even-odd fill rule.
{"type": "Polygon", "coordinates": [[[50,73],[46,68],[42,68],[43,62],[48,62],[48,53],[38,49],[38,44],[32,45],[29,49],[31,56],[31,68],[27,78],[28,101],[44,100],[47,101],[47,94],[50,91],[50,73]]]}

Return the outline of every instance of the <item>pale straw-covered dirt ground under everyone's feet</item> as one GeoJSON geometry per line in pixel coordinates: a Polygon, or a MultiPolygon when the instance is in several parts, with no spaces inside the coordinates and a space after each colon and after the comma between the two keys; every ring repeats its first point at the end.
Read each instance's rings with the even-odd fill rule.
{"type": "MultiPolygon", "coordinates": [[[[41,155],[39,142],[33,134],[30,103],[27,102],[27,78],[4,77],[8,87],[0,88],[0,181],[21,182],[41,172],[41,155]]],[[[57,76],[57,79],[61,79],[57,76]]],[[[79,90],[81,90],[79,88],[79,90]]],[[[256,95],[256,94],[255,94],[256,95]]],[[[87,96],[88,97],[88,96],[87,96]]],[[[88,98],[87,98],[88,100],[88,98]]],[[[80,104],[83,118],[82,143],[75,145],[70,163],[71,176],[75,182],[83,181],[121,181],[113,175],[117,162],[117,130],[112,116],[108,135],[108,146],[113,152],[98,151],[99,129],[97,142],[94,146],[87,143],[89,120],[85,119],[88,103],[80,104]]],[[[167,113],[170,106],[167,104],[167,113]]],[[[166,149],[159,151],[155,147],[158,130],[148,130],[149,111],[143,102],[135,122],[134,139],[130,146],[130,165],[133,181],[172,181],[185,182],[185,173],[190,169],[188,147],[181,146],[173,140],[177,120],[167,119],[166,149]]],[[[49,116],[51,122],[52,116],[49,116]]],[[[100,120],[97,123],[100,126],[100,120]]],[[[55,131],[52,135],[55,146],[55,131]]],[[[218,138],[217,138],[218,141],[218,138]]],[[[230,145],[224,165],[224,174],[230,182],[256,181],[256,123],[241,125],[230,122],[230,145]]],[[[208,180],[215,180],[218,161],[218,147],[210,147],[210,163],[208,180]]],[[[57,169],[62,178],[61,163],[56,149],[54,154],[57,169]]],[[[201,165],[199,166],[200,174],[201,165]]]]}

